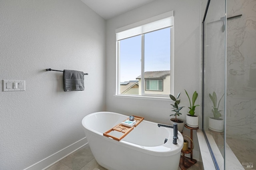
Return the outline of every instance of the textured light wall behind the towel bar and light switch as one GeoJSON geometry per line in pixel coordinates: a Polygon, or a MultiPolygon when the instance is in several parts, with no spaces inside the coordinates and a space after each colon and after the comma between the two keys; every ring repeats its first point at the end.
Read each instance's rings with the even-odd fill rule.
{"type": "Polygon", "coordinates": [[[80,0],[1,0],[0,169],[20,170],[85,137],[81,121],[105,110],[106,22],[80,0]],[[85,91],[63,91],[62,73],[89,73],[85,91]]]}

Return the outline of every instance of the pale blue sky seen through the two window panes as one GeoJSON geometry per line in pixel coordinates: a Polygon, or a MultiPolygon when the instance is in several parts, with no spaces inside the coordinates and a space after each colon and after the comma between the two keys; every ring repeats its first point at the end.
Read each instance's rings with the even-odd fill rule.
{"type": "MultiPolygon", "coordinates": [[[[145,70],[170,70],[170,28],[145,34],[145,70]]],[[[141,36],[120,41],[120,81],[136,80],[141,74],[141,36]]]]}

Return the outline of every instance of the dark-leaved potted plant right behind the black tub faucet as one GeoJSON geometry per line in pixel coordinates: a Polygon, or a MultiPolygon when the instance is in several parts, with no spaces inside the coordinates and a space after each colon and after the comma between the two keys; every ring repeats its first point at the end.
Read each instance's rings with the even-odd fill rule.
{"type": "Polygon", "coordinates": [[[182,119],[177,119],[177,116],[182,115],[180,113],[180,110],[184,107],[179,107],[180,104],[180,100],[178,100],[178,98],[180,97],[180,93],[177,95],[177,98],[175,98],[173,95],[170,95],[170,98],[174,101],[174,105],[172,105],[172,112],[174,112],[174,114],[170,115],[170,116],[175,116],[175,118],[170,119],[171,120],[171,124],[173,125],[173,123],[177,123],[178,124],[178,130],[180,132],[182,132],[183,128],[184,128],[184,120],[182,119]]]}

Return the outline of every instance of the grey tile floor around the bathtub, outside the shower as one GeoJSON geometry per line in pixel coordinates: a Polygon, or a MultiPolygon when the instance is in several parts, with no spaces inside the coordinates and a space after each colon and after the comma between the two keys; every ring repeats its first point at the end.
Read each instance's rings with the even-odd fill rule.
{"type": "MultiPolygon", "coordinates": [[[[89,145],[85,145],[82,148],[78,149],[76,152],[70,154],[66,158],[60,160],[50,168],[46,170],[107,170],[100,166],[92,152],[89,145]]],[[[134,169],[136,170],[136,169],[134,169]]],[[[178,170],[181,170],[180,167],[178,170]]],[[[188,170],[200,170],[200,163],[194,164],[188,170]]]]}

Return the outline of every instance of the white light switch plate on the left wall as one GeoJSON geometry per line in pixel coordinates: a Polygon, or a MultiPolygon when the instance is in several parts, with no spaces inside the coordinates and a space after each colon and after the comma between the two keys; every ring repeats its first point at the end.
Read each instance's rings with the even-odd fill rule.
{"type": "Polygon", "coordinates": [[[3,91],[25,91],[25,80],[3,80],[3,91]]]}

